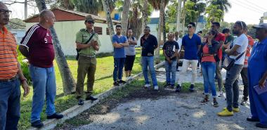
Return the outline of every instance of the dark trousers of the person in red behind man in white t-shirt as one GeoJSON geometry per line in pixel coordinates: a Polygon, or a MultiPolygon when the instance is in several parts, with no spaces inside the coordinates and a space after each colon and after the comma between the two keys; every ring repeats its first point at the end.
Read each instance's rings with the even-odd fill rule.
{"type": "Polygon", "coordinates": [[[248,100],[249,96],[249,79],[247,78],[247,67],[243,67],[243,69],[240,72],[242,77],[242,82],[244,84],[244,90],[243,90],[243,99],[248,100]]]}

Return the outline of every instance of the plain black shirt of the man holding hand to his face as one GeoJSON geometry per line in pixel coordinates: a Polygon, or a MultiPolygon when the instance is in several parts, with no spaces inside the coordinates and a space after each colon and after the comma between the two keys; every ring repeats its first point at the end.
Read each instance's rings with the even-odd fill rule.
{"type": "Polygon", "coordinates": [[[145,35],[141,37],[142,56],[154,56],[154,49],[157,46],[157,38],[149,34],[145,39],[145,35]]]}

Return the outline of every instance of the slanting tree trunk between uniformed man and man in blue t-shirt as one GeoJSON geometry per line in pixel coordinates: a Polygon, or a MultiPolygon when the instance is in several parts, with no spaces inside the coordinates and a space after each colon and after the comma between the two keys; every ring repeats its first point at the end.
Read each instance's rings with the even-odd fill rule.
{"type": "Polygon", "coordinates": [[[115,34],[114,28],[112,25],[112,19],[110,16],[110,8],[108,6],[108,0],[101,0],[103,4],[103,10],[105,11],[105,18],[108,24],[108,32],[110,32],[110,40],[112,41],[112,36],[115,34]]]}

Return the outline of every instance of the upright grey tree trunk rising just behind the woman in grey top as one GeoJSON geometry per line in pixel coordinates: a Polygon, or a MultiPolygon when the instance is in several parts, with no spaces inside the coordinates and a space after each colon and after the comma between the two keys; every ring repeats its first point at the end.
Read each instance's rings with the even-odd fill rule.
{"type": "Polygon", "coordinates": [[[122,34],[126,36],[131,0],[124,0],[122,11],[122,34]]]}

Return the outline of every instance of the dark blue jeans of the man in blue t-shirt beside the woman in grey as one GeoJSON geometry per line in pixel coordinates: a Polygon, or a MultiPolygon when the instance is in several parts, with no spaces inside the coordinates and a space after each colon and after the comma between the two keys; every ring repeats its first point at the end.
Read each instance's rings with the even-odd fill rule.
{"type": "Polygon", "coordinates": [[[114,58],[113,81],[122,80],[125,58],[114,58]]]}

